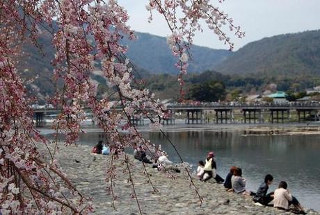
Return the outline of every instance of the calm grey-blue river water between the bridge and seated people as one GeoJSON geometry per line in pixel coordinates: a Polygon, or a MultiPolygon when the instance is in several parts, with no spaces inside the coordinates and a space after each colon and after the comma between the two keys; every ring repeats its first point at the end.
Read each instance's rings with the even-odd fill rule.
{"type": "MultiPolygon", "coordinates": [[[[209,151],[216,154],[218,174],[225,178],[230,166],[239,166],[247,179],[247,188],[257,191],[264,175],[273,175],[274,191],[281,180],[301,205],[320,212],[320,135],[250,135],[245,131],[166,132],[184,161],[196,168],[209,151]]],[[[169,159],[179,162],[177,154],[164,135],[143,132],[154,144],[161,144],[169,159]]],[[[99,132],[81,135],[79,144],[93,146],[103,135],[99,132]]]]}

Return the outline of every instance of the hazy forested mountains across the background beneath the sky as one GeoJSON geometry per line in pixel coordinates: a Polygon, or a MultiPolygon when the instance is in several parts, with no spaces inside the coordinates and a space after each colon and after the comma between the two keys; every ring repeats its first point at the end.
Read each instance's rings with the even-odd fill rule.
{"type": "MultiPolygon", "coordinates": [[[[157,92],[161,98],[177,97],[177,70],[175,58],[166,44],[166,38],[147,33],[137,33],[138,40],[129,42],[127,55],[138,71],[138,78],[147,78],[147,87],[157,92]],[[159,75],[155,75],[159,74],[159,75]],[[173,76],[172,76],[173,75],[173,76]]],[[[33,82],[33,94],[38,98],[52,95],[54,85],[51,83],[53,67],[50,61],[54,57],[51,38],[43,33],[39,38],[45,57],[33,46],[24,46],[24,56],[19,58],[18,69],[26,79],[38,76],[33,82]]],[[[193,85],[209,81],[223,83],[227,91],[239,89],[241,92],[262,91],[265,86],[275,83],[279,90],[301,91],[306,87],[320,85],[320,31],[278,35],[251,42],[234,53],[193,46],[193,62],[186,77],[186,91],[193,85]],[[219,65],[218,62],[221,62],[219,65]],[[216,72],[202,71],[213,70],[216,72]],[[232,75],[230,75],[232,74],[232,75]],[[234,75],[237,74],[237,75],[234,75]]],[[[108,90],[106,80],[97,72],[92,76],[99,83],[98,91],[103,94],[108,90]]],[[[211,83],[212,84],[212,83],[211,83]]]]}

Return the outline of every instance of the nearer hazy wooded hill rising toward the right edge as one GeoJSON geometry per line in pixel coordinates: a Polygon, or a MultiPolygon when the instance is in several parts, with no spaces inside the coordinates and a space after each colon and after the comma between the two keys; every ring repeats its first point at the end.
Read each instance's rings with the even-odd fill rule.
{"type": "Polygon", "coordinates": [[[223,74],[320,74],[320,31],[250,42],[214,69],[223,74]]]}

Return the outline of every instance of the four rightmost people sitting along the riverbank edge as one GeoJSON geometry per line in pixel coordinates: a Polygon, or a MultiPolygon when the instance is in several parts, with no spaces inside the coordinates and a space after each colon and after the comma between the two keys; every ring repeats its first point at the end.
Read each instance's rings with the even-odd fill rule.
{"type": "Polygon", "coordinates": [[[272,206],[282,210],[288,210],[290,205],[294,205],[297,214],[305,214],[303,207],[301,207],[298,200],[291,195],[289,189],[287,189],[287,182],[281,181],[278,189],[274,192],[268,193],[269,186],[273,182],[273,176],[267,174],[264,177],[264,182],[259,186],[256,193],[248,191],[246,189],[246,179],[242,177],[242,170],[237,166],[232,166],[230,172],[225,178],[225,189],[227,191],[234,191],[235,193],[241,193],[244,195],[253,196],[255,203],[272,206]]]}

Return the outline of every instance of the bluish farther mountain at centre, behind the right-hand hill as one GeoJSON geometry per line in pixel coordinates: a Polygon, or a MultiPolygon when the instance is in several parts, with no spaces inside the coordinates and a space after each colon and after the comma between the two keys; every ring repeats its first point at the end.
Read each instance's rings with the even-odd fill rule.
{"type": "MultiPolygon", "coordinates": [[[[177,74],[175,67],[177,59],[173,57],[168,48],[166,38],[149,33],[136,33],[138,40],[124,40],[129,46],[127,55],[134,64],[150,71],[152,74],[177,74]]],[[[201,72],[212,69],[218,63],[223,62],[231,51],[209,49],[202,46],[191,46],[193,60],[189,62],[189,72],[201,72]]]]}

